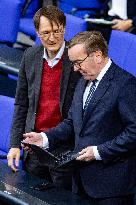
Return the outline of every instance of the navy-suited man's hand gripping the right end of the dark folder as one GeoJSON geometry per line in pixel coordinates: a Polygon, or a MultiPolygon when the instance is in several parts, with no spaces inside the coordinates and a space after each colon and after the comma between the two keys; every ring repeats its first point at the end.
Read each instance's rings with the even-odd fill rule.
{"type": "Polygon", "coordinates": [[[83,149],[81,152],[79,152],[79,155],[80,156],[77,157],[76,160],[86,161],[86,162],[95,160],[92,146],[89,146],[89,147],[83,149]]]}

